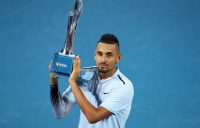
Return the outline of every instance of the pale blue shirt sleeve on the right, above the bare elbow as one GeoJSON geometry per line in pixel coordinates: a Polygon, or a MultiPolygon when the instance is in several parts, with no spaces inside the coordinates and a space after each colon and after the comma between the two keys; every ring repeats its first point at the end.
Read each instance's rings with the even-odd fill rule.
{"type": "Polygon", "coordinates": [[[113,114],[117,114],[117,112],[122,110],[130,110],[133,99],[133,87],[128,85],[122,86],[110,92],[107,99],[100,106],[106,108],[113,114]]]}

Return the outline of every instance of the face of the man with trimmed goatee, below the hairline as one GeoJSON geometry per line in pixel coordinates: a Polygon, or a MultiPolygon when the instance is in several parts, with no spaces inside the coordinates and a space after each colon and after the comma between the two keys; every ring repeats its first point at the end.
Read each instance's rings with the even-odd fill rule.
{"type": "Polygon", "coordinates": [[[115,65],[121,59],[116,44],[106,44],[102,42],[97,44],[94,57],[100,73],[115,72],[115,65]]]}

